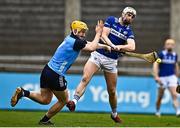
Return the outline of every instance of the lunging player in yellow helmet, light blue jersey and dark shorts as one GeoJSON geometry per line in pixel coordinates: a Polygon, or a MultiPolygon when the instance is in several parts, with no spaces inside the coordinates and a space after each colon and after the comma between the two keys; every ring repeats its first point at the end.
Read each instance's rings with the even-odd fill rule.
{"type": "Polygon", "coordinates": [[[80,51],[94,51],[97,48],[105,48],[109,52],[111,51],[110,46],[98,43],[102,34],[102,29],[103,22],[98,21],[94,40],[88,42],[85,40],[85,34],[88,30],[86,23],[82,21],[73,21],[71,23],[71,34],[59,45],[55,54],[41,73],[40,92],[32,92],[18,87],[11,98],[11,106],[14,107],[22,97],[28,97],[40,104],[49,104],[54,94],[58,102],[49,109],[39,122],[39,124],[51,125],[52,122],[49,119],[59,112],[68,102],[65,75],[78,57],[80,51]]]}

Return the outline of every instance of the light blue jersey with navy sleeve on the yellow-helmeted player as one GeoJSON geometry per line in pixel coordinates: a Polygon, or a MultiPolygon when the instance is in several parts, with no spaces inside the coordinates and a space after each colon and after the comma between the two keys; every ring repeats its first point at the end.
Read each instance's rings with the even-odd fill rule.
{"type": "Polygon", "coordinates": [[[56,49],[55,54],[48,62],[48,66],[59,75],[64,76],[86,43],[85,40],[81,40],[73,34],[67,36],[56,49]]]}

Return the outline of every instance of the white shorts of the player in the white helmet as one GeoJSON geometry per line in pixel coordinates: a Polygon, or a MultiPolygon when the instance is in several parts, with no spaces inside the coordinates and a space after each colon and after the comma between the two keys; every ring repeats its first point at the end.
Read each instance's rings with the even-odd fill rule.
{"type": "Polygon", "coordinates": [[[89,61],[96,64],[99,68],[101,68],[104,71],[111,72],[111,73],[117,73],[117,61],[118,60],[111,59],[109,57],[106,57],[106,56],[94,51],[91,53],[89,61]]]}

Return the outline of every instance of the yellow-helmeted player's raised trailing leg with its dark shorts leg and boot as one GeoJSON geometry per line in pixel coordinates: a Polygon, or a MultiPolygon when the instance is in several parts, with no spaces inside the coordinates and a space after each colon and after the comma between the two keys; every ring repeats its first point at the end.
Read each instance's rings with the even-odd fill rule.
{"type": "Polygon", "coordinates": [[[11,98],[11,106],[15,106],[19,99],[23,96],[34,100],[40,104],[49,104],[51,102],[53,93],[51,91],[51,86],[54,84],[54,79],[58,78],[59,75],[52,71],[48,65],[46,65],[41,73],[40,78],[40,92],[30,92],[28,90],[23,89],[22,87],[18,87],[11,98]]]}

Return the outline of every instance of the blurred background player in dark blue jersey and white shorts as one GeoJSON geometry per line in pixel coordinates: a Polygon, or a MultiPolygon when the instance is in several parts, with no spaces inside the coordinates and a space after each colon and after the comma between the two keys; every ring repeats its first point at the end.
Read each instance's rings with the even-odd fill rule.
{"type": "Polygon", "coordinates": [[[175,47],[175,41],[173,39],[167,39],[165,41],[164,50],[159,52],[159,57],[162,62],[157,62],[153,65],[154,78],[158,83],[158,98],[156,101],[156,116],[160,117],[161,100],[165,89],[167,88],[172,96],[173,105],[176,110],[176,115],[180,116],[180,108],[177,100],[176,87],[178,84],[178,56],[173,51],[175,47]]]}

